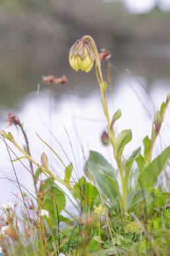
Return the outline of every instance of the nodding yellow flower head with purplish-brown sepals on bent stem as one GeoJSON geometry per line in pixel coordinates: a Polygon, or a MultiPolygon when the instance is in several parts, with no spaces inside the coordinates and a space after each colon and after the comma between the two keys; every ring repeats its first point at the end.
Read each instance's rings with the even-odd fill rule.
{"type": "Polygon", "coordinates": [[[69,62],[76,71],[90,71],[94,65],[94,57],[94,50],[88,40],[77,40],[69,52],[69,62]]]}

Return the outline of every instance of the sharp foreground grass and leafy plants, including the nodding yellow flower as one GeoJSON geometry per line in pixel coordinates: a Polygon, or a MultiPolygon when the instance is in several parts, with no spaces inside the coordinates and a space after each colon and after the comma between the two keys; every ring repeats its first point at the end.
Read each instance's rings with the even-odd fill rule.
{"type": "MultiPolygon", "coordinates": [[[[143,140],[144,152],[139,146],[125,159],[123,151],[132,139],[132,132],[123,130],[115,136],[115,123],[121,118],[121,110],[117,110],[110,120],[106,98],[107,83],[103,81],[94,40],[90,36],[84,36],[72,46],[70,58],[71,61],[74,58],[73,67],[86,71],[92,66],[91,62],[96,61],[101,103],[116,164],[113,167],[100,153],[90,151],[88,161],[84,163],[84,175],[75,179],[72,163],[65,165],[57,151],[40,138],[61,161],[65,172],[60,177],[57,171],[51,171],[52,167],[45,153],[42,153],[41,163],[34,160],[23,124],[14,114],[9,114],[9,124],[15,124],[20,129],[26,146],[22,148],[13,134],[3,130],[1,141],[7,147],[10,157],[13,151],[9,143],[22,153],[22,157],[18,158],[16,155],[16,159],[11,158],[12,163],[20,161],[22,164],[22,158],[30,162],[30,170],[27,170],[32,173],[36,196],[29,195],[29,191],[27,194],[23,192],[24,188],[18,183],[16,176],[22,195],[22,216],[16,212],[16,204],[1,206],[2,251],[7,256],[168,256],[169,187],[159,184],[158,178],[168,165],[170,146],[154,159],[152,151],[169,105],[170,94],[155,113],[151,136],[146,136],[143,140]],[[73,213],[66,206],[67,200],[72,204],[73,213]]],[[[47,81],[47,78],[44,80],[47,81]]]]}

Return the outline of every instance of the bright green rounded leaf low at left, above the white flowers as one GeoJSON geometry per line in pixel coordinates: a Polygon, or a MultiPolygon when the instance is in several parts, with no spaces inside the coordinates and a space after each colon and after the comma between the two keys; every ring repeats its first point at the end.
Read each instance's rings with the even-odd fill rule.
{"type": "Polygon", "coordinates": [[[51,179],[46,179],[42,184],[40,187],[40,191],[44,194],[42,208],[49,212],[51,220],[56,223],[59,218],[58,214],[65,208],[65,194],[56,187],[51,179]]]}

